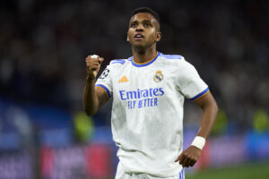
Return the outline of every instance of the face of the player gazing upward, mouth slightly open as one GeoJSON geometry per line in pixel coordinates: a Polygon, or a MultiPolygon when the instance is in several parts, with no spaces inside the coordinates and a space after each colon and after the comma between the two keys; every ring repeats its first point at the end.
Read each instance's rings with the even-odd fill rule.
{"type": "Polygon", "coordinates": [[[131,18],[127,41],[133,47],[151,47],[160,39],[159,23],[151,13],[136,13],[131,18]]]}

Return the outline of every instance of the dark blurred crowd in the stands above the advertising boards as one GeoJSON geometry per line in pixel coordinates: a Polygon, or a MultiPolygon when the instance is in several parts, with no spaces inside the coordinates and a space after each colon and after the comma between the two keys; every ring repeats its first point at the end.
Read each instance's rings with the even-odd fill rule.
{"type": "Polygon", "coordinates": [[[231,123],[245,130],[256,110],[269,113],[265,0],[1,1],[0,97],[82,110],[85,57],[103,56],[104,69],[131,56],[126,31],[139,6],[161,16],[157,49],[194,64],[231,123]]]}

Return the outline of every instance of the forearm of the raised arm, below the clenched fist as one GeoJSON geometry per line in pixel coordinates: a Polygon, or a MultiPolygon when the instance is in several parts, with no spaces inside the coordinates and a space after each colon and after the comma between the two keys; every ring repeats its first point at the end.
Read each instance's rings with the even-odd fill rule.
{"type": "Polygon", "coordinates": [[[99,107],[99,100],[95,92],[95,80],[87,79],[83,91],[83,107],[87,115],[94,115],[99,107]]]}

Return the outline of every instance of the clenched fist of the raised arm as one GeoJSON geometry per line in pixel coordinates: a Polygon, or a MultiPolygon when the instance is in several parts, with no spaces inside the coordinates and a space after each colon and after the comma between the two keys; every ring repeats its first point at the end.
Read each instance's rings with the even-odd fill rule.
{"type": "Polygon", "coordinates": [[[100,64],[104,61],[104,58],[98,56],[97,58],[92,58],[91,55],[88,55],[85,59],[87,66],[87,78],[95,79],[100,70],[100,64]]]}

